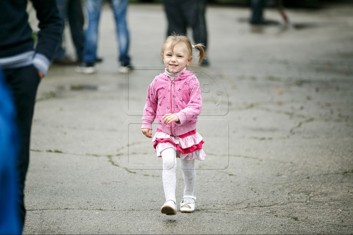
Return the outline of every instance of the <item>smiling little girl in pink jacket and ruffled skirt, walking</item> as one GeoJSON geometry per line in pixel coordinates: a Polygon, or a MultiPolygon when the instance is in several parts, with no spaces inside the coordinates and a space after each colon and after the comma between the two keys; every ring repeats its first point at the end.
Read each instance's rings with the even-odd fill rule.
{"type": "Polygon", "coordinates": [[[167,37],[161,56],[165,72],[154,78],[147,91],[143,112],[142,132],[152,138],[152,122],[156,118],[158,128],[153,136],[153,147],[157,157],[163,160],[163,188],[166,202],[161,212],[176,214],[176,158],[184,178],[184,196],[180,203],[181,212],[195,210],[194,188],[196,170],[194,160],[204,160],[203,140],[196,132],[196,122],[202,110],[200,83],[186,66],[192,61],[192,49],[199,50],[198,64],[205,57],[202,44],[192,45],[185,36],[167,37]]]}

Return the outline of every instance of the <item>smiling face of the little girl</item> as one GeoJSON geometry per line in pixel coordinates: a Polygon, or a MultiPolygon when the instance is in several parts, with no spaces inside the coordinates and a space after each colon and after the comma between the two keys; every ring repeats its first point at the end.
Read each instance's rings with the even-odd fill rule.
{"type": "Polygon", "coordinates": [[[192,56],[189,56],[189,51],[184,43],[176,44],[173,51],[170,49],[170,44],[166,45],[166,49],[161,55],[168,72],[172,73],[182,71],[192,61],[192,56]]]}

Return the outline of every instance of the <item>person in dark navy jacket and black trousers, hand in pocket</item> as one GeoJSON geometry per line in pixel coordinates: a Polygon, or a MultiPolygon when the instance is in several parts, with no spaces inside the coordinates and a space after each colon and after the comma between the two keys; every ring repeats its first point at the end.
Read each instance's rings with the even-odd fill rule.
{"type": "Polygon", "coordinates": [[[22,226],[25,223],[25,176],[29,164],[30,131],[37,87],[48,71],[62,33],[62,21],[56,1],[31,1],[36,9],[40,28],[36,47],[28,24],[27,0],[0,1],[0,67],[15,102],[21,140],[21,150],[17,158],[17,209],[22,226]]]}

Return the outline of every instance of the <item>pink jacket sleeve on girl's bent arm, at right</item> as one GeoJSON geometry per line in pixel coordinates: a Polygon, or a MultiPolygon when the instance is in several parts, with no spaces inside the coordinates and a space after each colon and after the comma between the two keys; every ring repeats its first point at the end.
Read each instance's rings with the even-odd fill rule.
{"type": "Polygon", "coordinates": [[[176,113],[180,124],[194,121],[202,111],[202,95],[200,83],[197,78],[190,79],[189,81],[189,95],[190,100],[186,107],[180,110],[179,113],[176,113]]]}

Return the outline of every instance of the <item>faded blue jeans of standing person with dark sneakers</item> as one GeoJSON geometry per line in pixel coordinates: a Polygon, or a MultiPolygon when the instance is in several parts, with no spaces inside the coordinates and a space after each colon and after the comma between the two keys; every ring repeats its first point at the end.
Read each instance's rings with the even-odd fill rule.
{"type": "MultiPolygon", "coordinates": [[[[126,26],[127,0],[109,0],[114,12],[116,31],[119,43],[119,61],[130,64],[128,56],[129,33],[126,26]]],[[[97,57],[98,25],[101,6],[104,0],[86,0],[88,27],[85,31],[85,47],[83,61],[94,63],[97,57]]]]}

